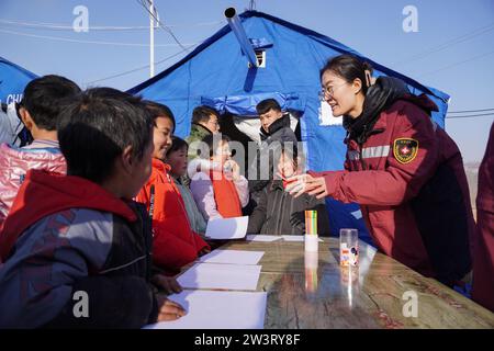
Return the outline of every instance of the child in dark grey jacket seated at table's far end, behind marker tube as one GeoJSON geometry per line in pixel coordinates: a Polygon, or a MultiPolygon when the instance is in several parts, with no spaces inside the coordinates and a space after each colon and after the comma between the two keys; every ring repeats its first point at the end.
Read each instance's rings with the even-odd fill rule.
{"type": "Polygon", "coordinates": [[[269,235],[304,235],[305,211],[317,211],[318,235],[329,236],[329,218],[324,200],[304,194],[293,197],[284,191],[283,178],[300,173],[296,151],[283,147],[278,163],[278,179],[260,193],[259,203],[249,217],[247,233],[269,235]],[[282,178],[282,179],[280,179],[282,178]]]}

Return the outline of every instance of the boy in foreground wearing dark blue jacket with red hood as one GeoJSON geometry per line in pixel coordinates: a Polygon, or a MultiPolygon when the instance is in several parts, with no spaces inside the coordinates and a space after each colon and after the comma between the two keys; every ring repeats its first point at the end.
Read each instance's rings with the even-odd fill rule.
{"type": "Polygon", "coordinates": [[[151,235],[131,201],[150,174],[139,99],[88,90],[61,112],[67,176],[27,172],[0,233],[0,328],[141,328],[183,309],[158,296],[151,235]]]}

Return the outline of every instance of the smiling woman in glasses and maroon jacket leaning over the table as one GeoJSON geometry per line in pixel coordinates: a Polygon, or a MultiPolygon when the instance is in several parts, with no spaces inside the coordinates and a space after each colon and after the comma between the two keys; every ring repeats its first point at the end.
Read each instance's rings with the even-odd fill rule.
{"type": "Polygon", "coordinates": [[[371,73],[351,55],[321,70],[324,100],[347,131],[345,169],[291,177],[289,192],[360,204],[381,251],[452,286],[471,271],[475,230],[460,150],[431,120],[431,100],[371,73]]]}

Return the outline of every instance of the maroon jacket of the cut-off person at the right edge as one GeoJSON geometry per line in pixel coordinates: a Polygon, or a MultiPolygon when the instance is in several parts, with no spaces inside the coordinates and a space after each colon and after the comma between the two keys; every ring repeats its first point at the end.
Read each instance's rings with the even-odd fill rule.
{"type": "Polygon", "coordinates": [[[494,312],[494,123],[479,169],[472,297],[494,312]]]}

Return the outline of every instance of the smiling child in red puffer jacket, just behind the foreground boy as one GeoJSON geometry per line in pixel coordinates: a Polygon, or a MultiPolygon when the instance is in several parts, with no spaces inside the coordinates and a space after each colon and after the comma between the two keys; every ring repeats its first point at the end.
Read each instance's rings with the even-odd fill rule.
{"type": "Polygon", "coordinates": [[[198,256],[209,252],[210,247],[191,229],[182,196],[168,174],[170,167],[161,161],[171,147],[173,114],[167,106],[150,101],[146,107],[155,122],[153,171],[136,201],[144,203],[153,217],[154,263],[175,274],[198,256]]]}

